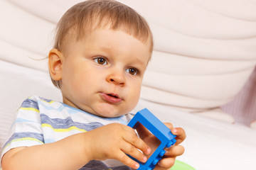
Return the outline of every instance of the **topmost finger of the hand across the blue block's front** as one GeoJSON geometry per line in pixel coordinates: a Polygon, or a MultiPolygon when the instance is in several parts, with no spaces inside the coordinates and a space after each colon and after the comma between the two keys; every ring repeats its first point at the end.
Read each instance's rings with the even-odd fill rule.
{"type": "Polygon", "coordinates": [[[127,133],[123,136],[123,139],[129,144],[132,144],[137,149],[140,149],[144,154],[150,154],[150,147],[146,145],[146,143],[141,138],[139,138],[135,132],[127,133]]]}

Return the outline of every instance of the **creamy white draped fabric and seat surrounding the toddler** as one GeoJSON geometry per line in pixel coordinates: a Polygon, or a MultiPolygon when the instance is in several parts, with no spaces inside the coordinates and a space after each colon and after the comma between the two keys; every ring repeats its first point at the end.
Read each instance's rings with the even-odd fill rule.
{"type": "MultiPolygon", "coordinates": [[[[220,121],[233,122],[233,117],[218,108],[238,96],[255,68],[256,2],[120,1],[139,11],[154,34],[142,99],[134,111],[147,107],[161,120],[183,127],[186,152],[178,159],[198,170],[254,169],[255,130],[220,121]]],[[[55,23],[76,2],[0,0],[0,149],[25,98],[61,100],[47,60],[41,59],[50,50],[55,23]]],[[[247,122],[255,118],[253,111],[242,112],[247,122]]]]}

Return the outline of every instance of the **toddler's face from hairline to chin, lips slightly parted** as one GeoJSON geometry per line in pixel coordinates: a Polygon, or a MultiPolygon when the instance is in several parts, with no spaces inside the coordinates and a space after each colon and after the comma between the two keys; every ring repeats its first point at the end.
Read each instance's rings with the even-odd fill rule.
{"type": "Polygon", "coordinates": [[[63,57],[63,103],[107,118],[129,113],[139,101],[149,56],[149,43],[123,31],[92,31],[63,57]]]}

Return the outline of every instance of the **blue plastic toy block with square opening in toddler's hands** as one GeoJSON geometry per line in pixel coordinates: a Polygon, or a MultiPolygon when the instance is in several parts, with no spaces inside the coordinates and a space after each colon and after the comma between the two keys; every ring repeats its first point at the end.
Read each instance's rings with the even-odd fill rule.
{"type": "Polygon", "coordinates": [[[128,123],[128,125],[136,129],[139,123],[144,125],[144,127],[148,129],[153,135],[155,135],[155,137],[157,137],[157,139],[159,139],[161,142],[159,147],[154,151],[153,154],[151,154],[151,157],[149,157],[146,163],[139,162],[137,159],[132,157],[132,159],[139,163],[139,170],[151,170],[154,169],[157,162],[159,162],[159,160],[161,160],[164,156],[164,149],[174,145],[176,142],[176,135],[173,135],[171,130],[167,128],[164,123],[161,123],[161,121],[146,108],[142,109],[142,111],[138,111],[136,115],[134,115],[134,118],[132,118],[132,120],[128,123]]]}

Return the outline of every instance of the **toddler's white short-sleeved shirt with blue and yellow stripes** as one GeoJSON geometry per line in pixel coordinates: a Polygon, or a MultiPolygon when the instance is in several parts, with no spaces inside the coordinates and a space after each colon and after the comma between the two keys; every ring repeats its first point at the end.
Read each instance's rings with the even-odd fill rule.
{"type": "MultiPolygon", "coordinates": [[[[102,125],[110,123],[127,125],[131,118],[131,114],[118,118],[101,118],[65,103],[32,96],[23,101],[21,108],[18,109],[1,157],[12,148],[56,142],[102,125]]],[[[114,160],[105,162],[92,160],[82,169],[129,169],[129,167],[114,160]]]]}

